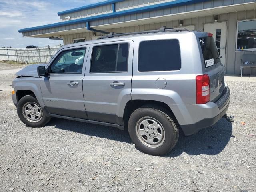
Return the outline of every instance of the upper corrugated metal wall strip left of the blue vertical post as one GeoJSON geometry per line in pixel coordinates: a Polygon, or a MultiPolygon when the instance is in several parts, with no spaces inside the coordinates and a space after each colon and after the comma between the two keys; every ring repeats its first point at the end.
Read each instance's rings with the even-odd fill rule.
{"type": "Polygon", "coordinates": [[[70,16],[71,20],[73,19],[79,19],[79,18],[85,18],[85,17],[91,17],[91,16],[96,16],[96,15],[102,15],[102,14],[107,14],[107,13],[112,13],[112,5],[104,5],[104,6],[99,6],[96,8],[91,8],[91,9],[86,9],[74,13],[68,13],[60,16],[61,20],[67,20],[65,17],[70,16]]]}

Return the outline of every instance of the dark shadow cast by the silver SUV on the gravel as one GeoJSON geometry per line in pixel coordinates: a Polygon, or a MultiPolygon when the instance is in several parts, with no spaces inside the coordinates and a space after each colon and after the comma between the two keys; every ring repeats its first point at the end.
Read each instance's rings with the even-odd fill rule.
{"type": "MultiPolygon", "coordinates": [[[[48,125],[55,126],[62,130],[86,134],[88,136],[96,136],[120,142],[132,143],[127,131],[118,130],[113,127],[58,118],[52,118],[48,125]]],[[[214,126],[202,129],[194,135],[186,137],[183,134],[180,134],[178,143],[165,157],[176,157],[183,152],[190,155],[216,155],[226,147],[231,136],[232,124],[222,118],[214,126]]]]}

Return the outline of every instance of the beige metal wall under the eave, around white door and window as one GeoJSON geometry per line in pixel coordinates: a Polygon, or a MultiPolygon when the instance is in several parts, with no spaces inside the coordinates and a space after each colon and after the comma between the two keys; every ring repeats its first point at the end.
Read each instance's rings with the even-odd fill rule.
{"type": "MultiPolygon", "coordinates": [[[[243,11],[243,12],[232,12],[228,14],[221,14],[219,16],[219,21],[227,21],[227,38],[226,38],[226,73],[227,74],[240,74],[240,58],[242,54],[256,54],[256,51],[240,51],[235,52],[236,47],[236,24],[237,20],[253,19],[256,18],[256,10],[243,11]]],[[[214,16],[206,16],[199,18],[191,18],[184,20],[184,26],[194,25],[195,29],[204,30],[204,24],[213,23],[214,16]]],[[[178,21],[170,21],[164,23],[156,24],[145,24],[141,26],[131,26],[125,28],[110,29],[108,32],[134,32],[134,31],[144,31],[144,30],[154,30],[161,26],[166,26],[168,28],[178,27],[178,21]]],[[[102,35],[96,33],[96,36],[102,35]]],[[[86,40],[91,40],[92,33],[80,33],[64,36],[64,44],[70,44],[73,42],[74,38],[86,38],[86,40]]],[[[244,69],[244,74],[250,74],[250,69],[244,69]]],[[[255,74],[256,70],[252,70],[252,74],[255,74]]]]}

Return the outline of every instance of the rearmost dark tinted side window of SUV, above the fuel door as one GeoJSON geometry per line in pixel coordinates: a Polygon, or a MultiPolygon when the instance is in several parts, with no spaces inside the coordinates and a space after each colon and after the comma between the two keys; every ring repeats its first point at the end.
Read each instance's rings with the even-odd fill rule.
{"type": "Polygon", "coordinates": [[[140,42],[138,70],[174,71],[180,70],[180,44],[177,39],[140,42]]]}

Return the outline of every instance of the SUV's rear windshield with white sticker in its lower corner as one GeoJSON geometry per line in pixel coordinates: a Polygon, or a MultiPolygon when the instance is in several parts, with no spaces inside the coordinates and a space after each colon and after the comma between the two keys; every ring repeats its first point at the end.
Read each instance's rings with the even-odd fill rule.
{"type": "Polygon", "coordinates": [[[220,62],[220,55],[213,37],[200,37],[199,42],[204,56],[205,67],[210,67],[220,62]]]}

